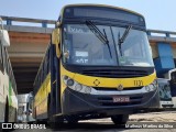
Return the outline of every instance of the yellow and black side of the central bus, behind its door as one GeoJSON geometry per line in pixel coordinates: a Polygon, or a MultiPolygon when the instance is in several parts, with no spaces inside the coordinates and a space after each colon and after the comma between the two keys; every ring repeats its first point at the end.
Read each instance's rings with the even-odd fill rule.
{"type": "Polygon", "coordinates": [[[45,56],[41,63],[37,76],[34,81],[34,103],[33,118],[47,119],[48,95],[51,94],[51,45],[48,45],[45,56]]]}

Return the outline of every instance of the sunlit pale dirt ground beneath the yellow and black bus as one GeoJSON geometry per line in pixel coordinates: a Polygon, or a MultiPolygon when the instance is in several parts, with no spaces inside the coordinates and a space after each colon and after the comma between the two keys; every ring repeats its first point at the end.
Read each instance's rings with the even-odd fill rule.
{"type": "Polygon", "coordinates": [[[117,128],[110,118],[79,121],[62,129],[15,130],[14,132],[176,132],[176,111],[138,113],[130,116],[125,128],[117,128]],[[164,123],[163,123],[164,122],[164,123]],[[168,122],[168,123],[167,123],[168,122]],[[162,127],[162,128],[161,128],[162,127]]]}

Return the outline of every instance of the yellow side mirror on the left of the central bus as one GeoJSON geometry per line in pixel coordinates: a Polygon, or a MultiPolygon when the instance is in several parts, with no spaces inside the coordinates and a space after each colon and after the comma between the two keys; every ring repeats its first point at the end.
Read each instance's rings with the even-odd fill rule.
{"type": "Polygon", "coordinates": [[[59,29],[54,29],[52,32],[52,44],[56,45],[56,55],[59,58],[61,56],[61,48],[59,48],[59,44],[61,44],[61,34],[59,34],[59,29]]]}

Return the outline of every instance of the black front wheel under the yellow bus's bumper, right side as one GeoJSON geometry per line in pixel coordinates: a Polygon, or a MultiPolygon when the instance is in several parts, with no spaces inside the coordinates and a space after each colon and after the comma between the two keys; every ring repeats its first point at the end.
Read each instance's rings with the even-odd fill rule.
{"type": "Polygon", "coordinates": [[[114,124],[122,125],[122,124],[125,124],[128,122],[129,114],[112,116],[111,120],[113,121],[114,124]]]}

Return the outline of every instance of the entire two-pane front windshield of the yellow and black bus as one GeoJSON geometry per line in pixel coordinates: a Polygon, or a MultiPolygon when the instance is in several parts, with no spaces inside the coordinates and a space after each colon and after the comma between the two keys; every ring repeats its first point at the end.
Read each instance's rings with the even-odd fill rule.
{"type": "Polygon", "coordinates": [[[65,24],[63,30],[63,62],[86,66],[153,67],[152,53],[144,31],[131,29],[119,47],[127,28],[96,25],[105,35],[103,43],[87,24],[65,24]]]}

